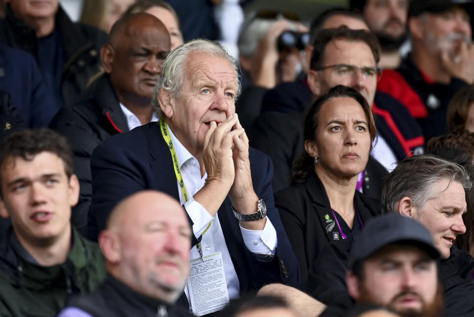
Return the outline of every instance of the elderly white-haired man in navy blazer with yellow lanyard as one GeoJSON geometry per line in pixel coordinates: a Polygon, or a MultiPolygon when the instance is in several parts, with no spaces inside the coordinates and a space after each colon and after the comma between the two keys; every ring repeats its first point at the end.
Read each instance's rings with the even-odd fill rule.
{"type": "Polygon", "coordinates": [[[274,204],[271,161],[249,148],[235,113],[239,91],[237,64],[222,46],[178,46],[157,84],[159,121],[106,140],[92,155],[92,238],[121,198],[142,189],[168,193],[186,209],[191,272],[178,303],[198,316],[298,277],[274,204]]]}

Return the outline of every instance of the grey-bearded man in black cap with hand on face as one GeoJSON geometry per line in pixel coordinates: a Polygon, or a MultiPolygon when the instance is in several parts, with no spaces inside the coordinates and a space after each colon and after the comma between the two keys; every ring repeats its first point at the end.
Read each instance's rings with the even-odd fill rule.
{"type": "Polygon", "coordinates": [[[379,90],[417,119],[428,141],[448,132],[453,95],[474,84],[472,0],[413,0],[408,9],[412,51],[400,67],[384,71],[379,90]]]}

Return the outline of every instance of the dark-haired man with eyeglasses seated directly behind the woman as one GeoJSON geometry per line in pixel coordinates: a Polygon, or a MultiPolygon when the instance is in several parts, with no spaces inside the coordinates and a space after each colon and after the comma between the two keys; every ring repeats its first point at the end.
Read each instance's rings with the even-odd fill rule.
{"type": "MultiPolygon", "coordinates": [[[[372,105],[377,119],[378,142],[371,152],[372,159],[369,159],[366,171],[361,175],[364,182],[360,188],[370,197],[380,199],[381,179],[387,173],[380,164],[390,170],[395,162],[413,152],[421,152],[424,145],[422,131],[407,109],[395,98],[376,93],[380,75],[380,69],[377,68],[380,46],[373,34],[342,27],[323,29],[314,38],[311,69],[307,76],[307,86],[313,95],[319,96],[336,85],[345,85],[355,88],[372,105]],[[365,178],[378,182],[370,184],[365,178]]],[[[272,158],[275,170],[279,172],[279,178],[274,179],[273,186],[282,189],[289,185],[287,176],[293,160],[304,150],[301,122],[307,105],[286,107],[290,99],[288,95],[294,92],[288,88],[285,90],[283,86],[276,87],[272,93],[275,110],[264,104],[264,109],[268,111],[257,119],[250,142],[272,158]],[[281,131],[282,125],[291,128],[281,131]],[[277,145],[274,140],[278,140],[277,145]]],[[[268,93],[264,100],[269,97],[268,93]]],[[[291,97],[297,99],[296,96],[291,97]]]]}

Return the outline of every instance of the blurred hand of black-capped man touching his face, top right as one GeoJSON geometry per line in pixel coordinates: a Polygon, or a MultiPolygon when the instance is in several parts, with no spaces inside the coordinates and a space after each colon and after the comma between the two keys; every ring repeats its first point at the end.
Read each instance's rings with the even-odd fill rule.
{"type": "Polygon", "coordinates": [[[456,77],[468,84],[474,84],[474,44],[462,42],[459,53],[452,57],[447,50],[441,52],[441,60],[444,68],[456,77]]]}

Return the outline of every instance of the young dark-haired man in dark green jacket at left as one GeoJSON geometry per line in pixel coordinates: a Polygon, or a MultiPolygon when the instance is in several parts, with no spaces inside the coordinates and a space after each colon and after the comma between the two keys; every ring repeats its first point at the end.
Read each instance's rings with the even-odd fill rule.
{"type": "Polygon", "coordinates": [[[97,244],[70,222],[79,197],[72,153],[51,130],[12,134],[0,145],[0,316],[56,316],[105,277],[97,244]]]}

